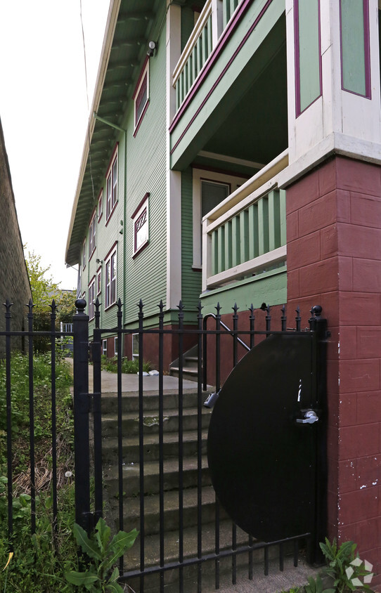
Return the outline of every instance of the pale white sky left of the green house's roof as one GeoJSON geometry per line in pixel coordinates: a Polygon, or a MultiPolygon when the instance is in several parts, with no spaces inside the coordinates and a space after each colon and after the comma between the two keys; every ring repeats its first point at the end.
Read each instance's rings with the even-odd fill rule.
{"type": "Polygon", "coordinates": [[[63,289],[65,248],[110,0],[0,0],[0,118],[26,252],[63,289]]]}

